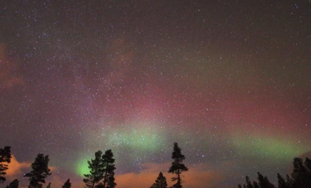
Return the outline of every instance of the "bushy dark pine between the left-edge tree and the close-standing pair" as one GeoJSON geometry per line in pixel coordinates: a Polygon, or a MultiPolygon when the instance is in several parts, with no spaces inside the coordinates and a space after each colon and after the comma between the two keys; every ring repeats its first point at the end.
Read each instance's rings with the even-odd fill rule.
{"type": "Polygon", "coordinates": [[[42,188],[42,183],[45,183],[45,178],[51,175],[49,165],[49,156],[38,154],[35,158],[35,162],[31,164],[32,171],[24,175],[29,177],[28,188],[42,188]]]}

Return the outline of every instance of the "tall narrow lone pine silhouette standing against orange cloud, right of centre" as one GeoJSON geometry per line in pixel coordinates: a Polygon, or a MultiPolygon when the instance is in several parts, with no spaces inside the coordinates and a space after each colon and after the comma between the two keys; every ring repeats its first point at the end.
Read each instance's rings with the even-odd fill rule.
{"type": "Polygon", "coordinates": [[[180,174],[188,171],[188,168],[182,163],[186,157],[181,154],[181,148],[178,147],[176,142],[174,142],[172,158],[174,161],[172,162],[169,172],[176,174],[176,177],[172,177],[172,181],[177,180],[177,183],[173,185],[173,188],[182,188],[180,174]]]}

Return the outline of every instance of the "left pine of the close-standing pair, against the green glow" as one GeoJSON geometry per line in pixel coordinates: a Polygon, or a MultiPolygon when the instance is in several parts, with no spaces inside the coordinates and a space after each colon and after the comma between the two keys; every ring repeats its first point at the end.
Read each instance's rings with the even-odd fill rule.
{"type": "Polygon", "coordinates": [[[95,153],[95,159],[91,159],[90,161],[87,161],[87,163],[90,173],[84,174],[86,178],[83,179],[83,182],[86,184],[87,188],[95,188],[104,177],[102,151],[97,151],[95,153]]]}

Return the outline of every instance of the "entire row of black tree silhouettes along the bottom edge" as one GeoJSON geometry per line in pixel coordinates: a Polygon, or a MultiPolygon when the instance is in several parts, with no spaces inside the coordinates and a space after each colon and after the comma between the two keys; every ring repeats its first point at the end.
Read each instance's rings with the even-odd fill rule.
{"type": "MultiPolygon", "coordinates": [[[[8,164],[11,162],[11,147],[5,146],[0,148],[0,186],[6,181],[5,175],[8,170],[8,164]]],[[[155,183],[150,188],[183,188],[182,172],[187,172],[189,169],[183,164],[183,160],[186,157],[181,153],[181,148],[178,143],[173,144],[172,153],[172,165],[168,172],[174,174],[172,182],[175,182],[172,187],[167,186],[166,177],[162,172],[159,172],[158,177],[155,179],[155,183]]],[[[49,169],[49,156],[44,154],[38,154],[35,157],[34,163],[31,164],[32,170],[24,174],[24,177],[28,177],[28,188],[43,188],[46,183],[45,179],[50,176],[51,170],[49,169]]],[[[95,158],[87,161],[89,173],[84,174],[85,178],[83,182],[86,188],[115,188],[114,171],[115,159],[113,158],[112,151],[106,150],[103,154],[102,151],[95,152],[95,158]]],[[[305,161],[299,157],[295,157],[293,160],[293,172],[290,175],[286,175],[286,178],[277,173],[277,188],[311,188],[311,159],[306,157],[305,161]]],[[[249,176],[245,176],[245,183],[239,184],[238,188],[276,188],[271,183],[267,176],[258,174],[258,181],[251,181],[249,176]]],[[[18,188],[19,180],[14,179],[5,188],[18,188]]],[[[208,184],[208,182],[207,182],[208,184]]],[[[46,188],[51,188],[52,182],[50,182],[46,188]]],[[[62,188],[71,188],[70,179],[64,183],[62,188]]]]}

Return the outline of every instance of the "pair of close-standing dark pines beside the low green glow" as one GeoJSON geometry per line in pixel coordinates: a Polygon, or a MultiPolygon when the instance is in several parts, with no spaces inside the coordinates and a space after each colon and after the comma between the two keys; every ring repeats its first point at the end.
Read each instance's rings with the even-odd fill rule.
{"type": "Polygon", "coordinates": [[[114,188],[116,187],[114,178],[114,165],[115,159],[111,150],[105,151],[102,156],[102,151],[95,153],[95,159],[87,161],[89,174],[83,181],[86,183],[87,188],[114,188]],[[103,180],[103,181],[102,181],[103,180]],[[101,182],[102,181],[102,182],[101,182]]]}

